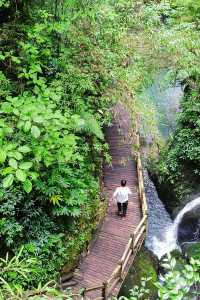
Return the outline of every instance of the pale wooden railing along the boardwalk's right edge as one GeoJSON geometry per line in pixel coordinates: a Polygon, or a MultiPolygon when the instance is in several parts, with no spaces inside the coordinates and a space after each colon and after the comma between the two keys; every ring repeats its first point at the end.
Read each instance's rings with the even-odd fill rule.
{"type": "MultiPolygon", "coordinates": [[[[130,239],[126,245],[124,253],[118,262],[118,265],[114,269],[113,273],[110,275],[110,278],[104,282],[102,285],[93,286],[91,288],[87,288],[83,290],[82,299],[85,299],[87,293],[94,290],[101,290],[101,299],[108,299],[109,295],[116,287],[116,285],[123,282],[129,267],[130,261],[132,262],[137,255],[143,241],[145,239],[145,233],[147,228],[147,217],[148,217],[148,209],[147,209],[147,201],[144,189],[144,180],[143,180],[143,172],[142,172],[142,162],[140,156],[140,136],[138,130],[138,122],[136,123],[136,161],[137,161],[137,175],[138,175],[138,192],[142,210],[142,220],[138,224],[135,231],[131,234],[130,239]]],[[[100,299],[100,298],[98,298],[100,299]]]]}

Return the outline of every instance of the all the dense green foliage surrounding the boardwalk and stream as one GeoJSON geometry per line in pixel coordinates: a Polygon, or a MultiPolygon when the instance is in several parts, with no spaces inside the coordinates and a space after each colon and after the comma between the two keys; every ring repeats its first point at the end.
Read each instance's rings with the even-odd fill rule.
{"type": "Polygon", "coordinates": [[[65,297],[41,286],[74,263],[100,218],[110,109],[124,101],[154,127],[137,94],[160,68],[185,98],[155,172],[176,196],[188,174],[199,180],[199,1],[133,2],[0,0],[1,299],[65,297]]]}

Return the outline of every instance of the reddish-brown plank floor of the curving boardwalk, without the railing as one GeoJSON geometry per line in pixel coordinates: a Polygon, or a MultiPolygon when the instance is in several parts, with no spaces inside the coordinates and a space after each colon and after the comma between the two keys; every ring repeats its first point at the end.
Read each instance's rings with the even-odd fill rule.
{"type": "MultiPolygon", "coordinates": [[[[76,291],[102,285],[109,279],[124,253],[130,234],[142,218],[130,128],[129,115],[122,106],[116,106],[112,126],[106,130],[112,166],[105,165],[103,169],[104,189],[109,197],[109,207],[89,254],[80,263],[74,275],[77,281],[74,288],[76,291]],[[127,180],[127,185],[132,191],[126,218],[117,216],[116,203],[111,201],[113,191],[120,185],[121,179],[127,180]]],[[[119,284],[115,287],[114,294],[118,293],[119,287],[119,284]]],[[[102,291],[96,289],[87,292],[85,299],[102,299],[101,297],[102,291]]]]}

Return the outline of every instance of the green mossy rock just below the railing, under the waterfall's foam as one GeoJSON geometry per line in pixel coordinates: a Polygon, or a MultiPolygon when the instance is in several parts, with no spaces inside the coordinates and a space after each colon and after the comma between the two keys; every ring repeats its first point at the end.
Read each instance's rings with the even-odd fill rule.
{"type": "Polygon", "coordinates": [[[142,278],[151,278],[147,282],[147,288],[151,291],[149,299],[155,299],[156,288],[154,283],[158,280],[157,269],[158,262],[150,256],[150,253],[145,248],[142,248],[124,280],[119,296],[128,297],[130,294],[129,291],[134,286],[141,285],[142,278]]]}

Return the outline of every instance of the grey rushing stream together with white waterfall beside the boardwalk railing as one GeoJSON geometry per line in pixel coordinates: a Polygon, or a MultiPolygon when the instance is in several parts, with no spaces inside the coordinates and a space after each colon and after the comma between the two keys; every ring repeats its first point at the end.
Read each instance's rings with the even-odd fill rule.
{"type": "MultiPolygon", "coordinates": [[[[159,259],[162,258],[167,253],[175,249],[180,249],[180,244],[178,242],[179,230],[181,230],[181,223],[186,217],[193,217],[196,219],[196,231],[195,227],[190,226],[190,219],[188,221],[188,226],[195,236],[195,233],[199,231],[200,224],[200,197],[189,202],[177,215],[174,222],[170,219],[167,211],[165,210],[162,202],[158,198],[156,189],[145,175],[145,189],[147,194],[147,201],[149,206],[149,224],[146,239],[146,246],[151,250],[159,259]],[[153,199],[153,201],[152,201],[153,199]],[[152,203],[153,206],[152,207],[152,203]],[[157,210],[157,213],[153,212],[153,209],[157,210]],[[165,225],[163,225],[165,223],[165,225]],[[156,225],[155,225],[156,224],[156,225]],[[198,227],[198,228],[197,228],[198,227]]],[[[197,237],[199,238],[199,236],[197,237]]],[[[188,236],[188,241],[190,237],[188,236]]]]}

